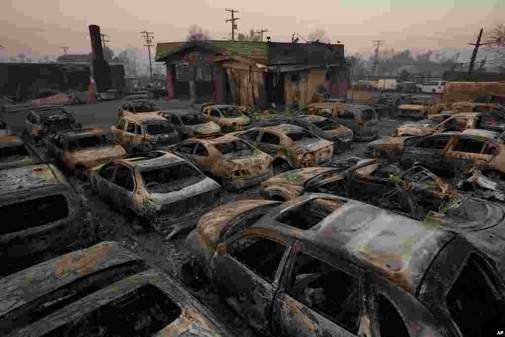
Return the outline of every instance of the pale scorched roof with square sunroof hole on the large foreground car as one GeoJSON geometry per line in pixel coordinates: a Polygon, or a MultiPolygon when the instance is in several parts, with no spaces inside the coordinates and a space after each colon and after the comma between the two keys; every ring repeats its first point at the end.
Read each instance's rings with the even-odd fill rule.
{"type": "Polygon", "coordinates": [[[362,268],[375,270],[413,294],[441,247],[455,236],[407,216],[322,193],[292,199],[249,227],[252,232],[262,228],[298,238],[362,268]],[[275,220],[288,208],[313,199],[329,199],[341,204],[337,211],[309,230],[275,220]]]}

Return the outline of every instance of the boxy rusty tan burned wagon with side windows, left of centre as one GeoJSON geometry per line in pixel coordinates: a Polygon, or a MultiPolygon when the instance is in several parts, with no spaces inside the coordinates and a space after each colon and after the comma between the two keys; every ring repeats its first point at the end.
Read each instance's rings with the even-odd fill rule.
{"type": "Polygon", "coordinates": [[[128,152],[148,152],[179,141],[179,133],[156,112],[119,112],[111,137],[128,152]]]}

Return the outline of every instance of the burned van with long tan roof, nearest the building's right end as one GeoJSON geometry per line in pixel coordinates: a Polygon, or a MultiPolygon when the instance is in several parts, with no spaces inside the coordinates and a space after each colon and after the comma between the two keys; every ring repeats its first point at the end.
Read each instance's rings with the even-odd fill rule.
{"type": "Polygon", "coordinates": [[[301,115],[319,115],[333,119],[351,129],[357,141],[369,141],[379,136],[377,112],[367,105],[314,103],[293,114],[293,116],[301,115]]]}

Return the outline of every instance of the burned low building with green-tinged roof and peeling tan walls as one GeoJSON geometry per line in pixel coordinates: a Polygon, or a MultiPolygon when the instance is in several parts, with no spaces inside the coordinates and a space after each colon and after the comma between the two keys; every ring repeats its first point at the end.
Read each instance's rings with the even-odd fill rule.
{"type": "Polygon", "coordinates": [[[343,44],[209,40],[158,43],[169,99],[267,107],[345,97],[343,44]]]}

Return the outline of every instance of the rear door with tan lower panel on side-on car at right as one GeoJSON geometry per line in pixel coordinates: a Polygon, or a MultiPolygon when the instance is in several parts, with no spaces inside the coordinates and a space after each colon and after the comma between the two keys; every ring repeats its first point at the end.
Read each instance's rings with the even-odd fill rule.
{"type": "Polygon", "coordinates": [[[455,172],[478,163],[488,162],[497,154],[496,147],[478,137],[453,136],[454,141],[445,153],[442,166],[455,172]]]}

